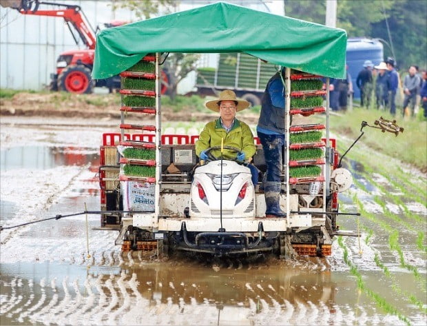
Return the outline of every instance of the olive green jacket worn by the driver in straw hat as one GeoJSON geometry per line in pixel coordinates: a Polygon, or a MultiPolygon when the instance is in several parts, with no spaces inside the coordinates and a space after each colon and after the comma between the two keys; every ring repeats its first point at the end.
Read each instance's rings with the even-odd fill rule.
{"type": "MultiPolygon", "coordinates": [[[[253,134],[249,125],[235,118],[233,128],[228,133],[222,128],[220,119],[207,123],[200,133],[198,141],[196,141],[196,155],[200,156],[200,152],[207,150],[209,147],[220,146],[221,138],[224,138],[225,146],[236,147],[244,152],[245,160],[252,157],[256,152],[253,134]]],[[[220,150],[214,150],[211,153],[218,158],[221,156],[220,150]]],[[[224,150],[223,157],[224,159],[236,159],[236,154],[232,150],[224,150]]]]}

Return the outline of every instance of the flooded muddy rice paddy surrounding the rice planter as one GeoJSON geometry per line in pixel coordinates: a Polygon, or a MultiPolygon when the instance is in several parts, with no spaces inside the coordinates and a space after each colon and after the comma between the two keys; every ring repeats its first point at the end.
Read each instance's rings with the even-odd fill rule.
{"type": "MultiPolygon", "coordinates": [[[[114,127],[10,122],[0,130],[1,225],[98,210],[98,146],[114,127]]],[[[85,216],[3,230],[0,323],[426,325],[426,177],[376,155],[349,154],[355,185],[340,205],[362,216],[337,223],[362,236],[335,238],[326,258],[163,261],[122,253],[117,232],[91,230],[96,215],[90,256],[85,216]]]]}

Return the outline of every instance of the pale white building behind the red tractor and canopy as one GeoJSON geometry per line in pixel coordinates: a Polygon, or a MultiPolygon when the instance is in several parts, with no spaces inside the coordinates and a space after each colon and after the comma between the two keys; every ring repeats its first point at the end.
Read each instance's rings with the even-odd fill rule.
{"type": "MultiPolygon", "coordinates": [[[[3,2],[3,0],[1,0],[3,2]]],[[[114,0],[50,0],[81,6],[92,28],[114,20],[136,21],[130,10],[113,10],[114,0]]],[[[176,10],[205,6],[211,0],[177,1],[176,10]]],[[[284,14],[282,0],[228,0],[256,10],[284,14]]],[[[43,7],[55,9],[55,6],[43,7]]],[[[42,90],[50,84],[50,74],[56,71],[56,59],[64,51],[84,49],[76,45],[61,17],[20,14],[17,10],[0,7],[0,88],[42,90]]],[[[201,65],[215,66],[216,57],[202,59],[201,65]]]]}

